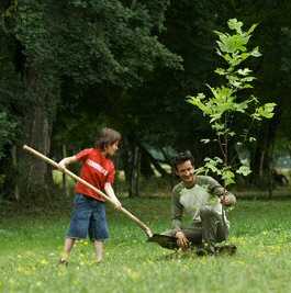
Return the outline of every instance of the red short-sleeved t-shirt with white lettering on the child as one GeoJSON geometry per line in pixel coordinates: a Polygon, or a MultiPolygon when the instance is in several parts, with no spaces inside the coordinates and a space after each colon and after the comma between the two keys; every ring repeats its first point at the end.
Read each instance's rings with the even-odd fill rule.
{"type": "MultiPolygon", "coordinates": [[[[114,165],[111,159],[102,156],[98,148],[87,148],[77,154],[78,161],[82,161],[81,179],[103,191],[105,182],[113,183],[114,181],[114,165]]],[[[75,191],[88,196],[92,196],[104,202],[98,193],[87,188],[80,182],[77,182],[75,191]]]]}

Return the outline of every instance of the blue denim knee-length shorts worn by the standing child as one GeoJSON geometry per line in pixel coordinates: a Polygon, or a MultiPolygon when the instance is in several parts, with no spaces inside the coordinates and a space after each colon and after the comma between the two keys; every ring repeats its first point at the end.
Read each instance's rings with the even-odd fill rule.
{"type": "Polygon", "coordinates": [[[67,237],[91,241],[109,239],[105,203],[80,193],[75,195],[75,206],[67,237]]]}

